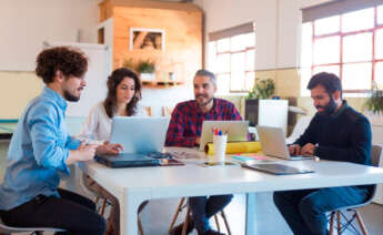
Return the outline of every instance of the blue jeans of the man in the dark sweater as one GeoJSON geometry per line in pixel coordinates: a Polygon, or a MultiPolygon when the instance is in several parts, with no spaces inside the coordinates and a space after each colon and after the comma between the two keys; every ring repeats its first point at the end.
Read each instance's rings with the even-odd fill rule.
{"type": "Polygon", "coordinates": [[[369,190],[355,186],[274,193],[274,203],[295,235],[326,235],[325,213],[363,203],[369,190]]]}

